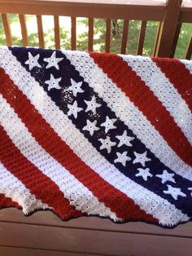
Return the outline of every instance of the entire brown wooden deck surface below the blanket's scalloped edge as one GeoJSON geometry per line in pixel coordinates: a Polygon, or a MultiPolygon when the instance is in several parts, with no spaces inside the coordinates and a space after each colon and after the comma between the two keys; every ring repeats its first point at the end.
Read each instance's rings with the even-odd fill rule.
{"type": "Polygon", "coordinates": [[[191,256],[191,252],[192,223],[164,229],[95,217],[63,222],[48,211],[30,217],[20,210],[0,211],[1,256],[191,256]]]}

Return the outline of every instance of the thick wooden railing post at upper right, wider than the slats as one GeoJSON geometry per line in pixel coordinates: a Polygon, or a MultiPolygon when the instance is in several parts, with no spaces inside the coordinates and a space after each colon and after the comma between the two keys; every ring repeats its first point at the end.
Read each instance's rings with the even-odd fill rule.
{"type": "Polygon", "coordinates": [[[159,26],[159,37],[156,41],[155,56],[169,57],[172,55],[172,45],[177,32],[177,24],[181,12],[182,0],[168,0],[164,19],[159,26]]]}

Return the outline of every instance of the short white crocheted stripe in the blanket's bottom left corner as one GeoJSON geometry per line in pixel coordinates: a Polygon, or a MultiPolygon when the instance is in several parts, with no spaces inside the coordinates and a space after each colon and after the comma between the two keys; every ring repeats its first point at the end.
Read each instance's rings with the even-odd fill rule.
{"type": "Polygon", "coordinates": [[[29,214],[37,209],[51,209],[47,204],[43,204],[40,200],[30,193],[9,170],[0,162],[0,193],[10,197],[12,201],[17,202],[24,212],[29,214]]]}

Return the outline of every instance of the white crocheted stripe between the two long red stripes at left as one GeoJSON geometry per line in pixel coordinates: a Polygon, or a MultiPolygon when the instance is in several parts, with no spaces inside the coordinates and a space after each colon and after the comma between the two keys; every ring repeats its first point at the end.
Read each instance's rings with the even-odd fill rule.
{"type": "Polygon", "coordinates": [[[12,142],[15,143],[15,146],[20,149],[20,152],[28,161],[31,161],[43,174],[46,174],[59,186],[60,191],[68,198],[70,204],[76,207],[76,210],[81,210],[87,214],[110,216],[114,220],[120,220],[109,208],[100,203],[88,188],[61,166],[59,162],[55,161],[44,148],[41,148],[2,95],[0,95],[0,110],[2,126],[12,142]]]}

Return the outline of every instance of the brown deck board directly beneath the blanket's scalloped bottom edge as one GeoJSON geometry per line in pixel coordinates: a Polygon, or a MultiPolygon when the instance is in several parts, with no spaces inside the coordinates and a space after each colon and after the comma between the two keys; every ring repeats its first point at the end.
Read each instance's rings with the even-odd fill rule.
{"type": "Polygon", "coordinates": [[[21,210],[14,208],[0,210],[0,222],[28,223],[52,227],[72,227],[111,232],[147,233],[159,236],[181,236],[192,238],[192,222],[180,224],[173,229],[157,227],[152,224],[141,222],[119,224],[113,223],[110,219],[98,217],[81,217],[66,222],[60,220],[59,217],[50,211],[37,211],[31,216],[26,217],[21,210]]]}

